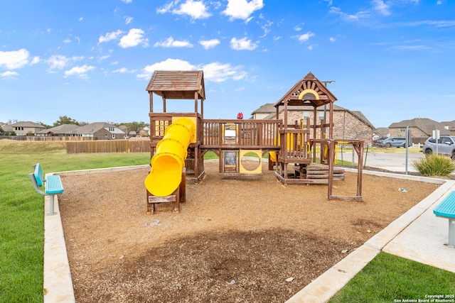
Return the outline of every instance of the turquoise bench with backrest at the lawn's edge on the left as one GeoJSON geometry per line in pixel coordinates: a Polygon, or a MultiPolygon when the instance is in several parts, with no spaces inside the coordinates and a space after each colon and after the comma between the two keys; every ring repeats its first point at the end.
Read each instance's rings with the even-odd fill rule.
{"type": "Polygon", "coordinates": [[[43,168],[41,167],[40,163],[36,163],[33,165],[35,171],[30,174],[31,183],[33,187],[36,189],[38,194],[42,194],[43,196],[49,196],[50,199],[50,211],[49,215],[57,214],[54,211],[54,197],[56,194],[61,194],[63,192],[63,184],[62,180],[60,179],[59,175],[50,175],[43,179],[43,168]],[[41,190],[43,187],[44,191],[41,190]]]}

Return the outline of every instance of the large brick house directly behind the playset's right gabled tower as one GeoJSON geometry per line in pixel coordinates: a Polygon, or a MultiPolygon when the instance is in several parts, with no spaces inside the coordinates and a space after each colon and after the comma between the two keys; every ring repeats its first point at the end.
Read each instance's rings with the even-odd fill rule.
{"type": "MultiPolygon", "coordinates": [[[[288,123],[301,123],[303,120],[306,123],[306,119],[309,118],[313,123],[313,106],[287,106],[288,110],[288,123]]],[[[269,104],[264,104],[259,109],[253,111],[253,117],[261,117],[261,119],[276,119],[277,109],[269,104]],[[267,115],[265,115],[269,111],[267,115]]],[[[278,119],[283,119],[284,109],[280,109],[278,119]]],[[[325,121],[329,121],[330,112],[319,106],[316,109],[317,121],[321,121],[326,117],[325,121]]],[[[349,139],[349,140],[361,140],[364,141],[365,145],[371,143],[373,138],[374,126],[360,111],[350,111],[341,106],[333,104],[333,138],[336,139],[349,139]]]]}

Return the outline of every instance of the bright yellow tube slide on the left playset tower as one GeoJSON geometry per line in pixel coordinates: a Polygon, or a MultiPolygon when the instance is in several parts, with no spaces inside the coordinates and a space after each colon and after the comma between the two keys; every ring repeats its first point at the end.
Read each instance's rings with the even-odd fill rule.
{"type": "Polygon", "coordinates": [[[151,172],[146,177],[146,189],[156,197],[172,194],[181,182],[188,145],[196,136],[196,126],[188,118],[174,121],[166,128],[164,136],[156,144],[151,158],[151,172]]]}

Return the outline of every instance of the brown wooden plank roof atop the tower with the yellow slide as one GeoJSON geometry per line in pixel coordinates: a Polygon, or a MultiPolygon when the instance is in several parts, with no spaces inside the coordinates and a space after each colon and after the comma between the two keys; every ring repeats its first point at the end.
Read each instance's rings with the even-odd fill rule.
{"type": "Polygon", "coordinates": [[[156,70],[151,76],[147,92],[165,99],[205,99],[204,73],[202,70],[156,70]]]}

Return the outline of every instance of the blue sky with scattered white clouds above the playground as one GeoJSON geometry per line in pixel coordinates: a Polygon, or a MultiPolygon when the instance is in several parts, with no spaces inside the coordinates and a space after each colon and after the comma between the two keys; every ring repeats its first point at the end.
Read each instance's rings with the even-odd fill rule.
{"type": "Polygon", "coordinates": [[[206,119],[247,118],[312,72],[375,127],[455,120],[452,0],[16,0],[0,20],[3,122],[149,122],[154,70],[203,70],[206,119]]]}

